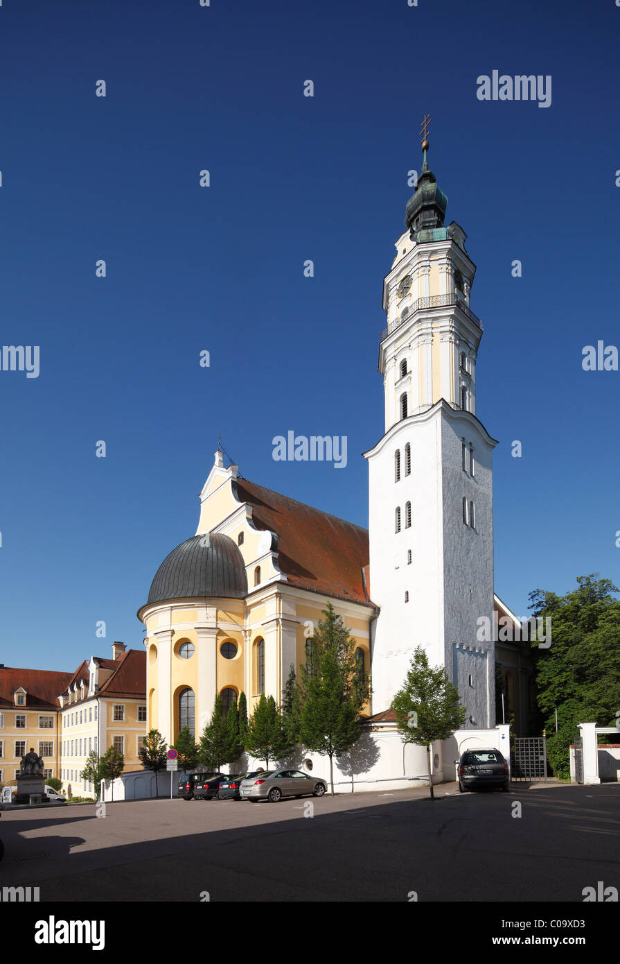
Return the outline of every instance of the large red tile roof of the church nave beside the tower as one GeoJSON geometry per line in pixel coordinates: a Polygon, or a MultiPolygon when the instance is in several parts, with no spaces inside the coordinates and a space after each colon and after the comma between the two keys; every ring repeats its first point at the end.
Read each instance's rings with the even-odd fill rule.
{"type": "Polygon", "coordinates": [[[362,567],[368,531],[295,498],[238,478],[237,498],[252,508],[252,522],[278,536],[278,565],[290,585],[335,599],[366,603],[362,567]]]}

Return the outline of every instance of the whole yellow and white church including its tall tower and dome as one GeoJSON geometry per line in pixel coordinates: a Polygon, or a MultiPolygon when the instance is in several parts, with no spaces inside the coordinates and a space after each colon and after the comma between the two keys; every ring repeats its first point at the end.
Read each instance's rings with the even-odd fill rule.
{"type": "MultiPolygon", "coordinates": [[[[195,534],[164,559],[138,611],[146,628],[147,727],[168,742],[185,726],[199,737],[217,693],[227,708],[244,691],[248,713],[263,693],[279,704],[331,602],[372,681],[363,738],[339,762],[338,783],[364,790],[379,781],[389,789],[426,779],[425,749],[402,744],[390,710],[418,645],[431,665],[445,667],[467,708],[459,738],[433,746],[433,781],[453,779],[463,740],[500,745],[498,644],[478,641],[477,628],[498,607],[512,614],[494,595],[497,442],[477,414],[476,267],[463,228],[444,224],[448,199],[428,168],[427,148],[425,138],[406,229],[383,282],[385,432],[364,453],[369,529],[249,482],[215,453],[195,534]]],[[[519,686],[522,674],[518,668],[519,686]]],[[[521,707],[521,694],[513,699],[521,707]]],[[[507,727],[500,729],[505,751],[507,727]]],[[[317,755],[302,764],[326,772],[317,755]]]]}

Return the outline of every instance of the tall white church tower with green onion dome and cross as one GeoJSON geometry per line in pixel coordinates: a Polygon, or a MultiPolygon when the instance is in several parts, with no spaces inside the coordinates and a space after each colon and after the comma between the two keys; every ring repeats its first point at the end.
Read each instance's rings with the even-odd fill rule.
{"type": "Polygon", "coordinates": [[[463,229],[444,227],[448,199],[428,170],[426,137],[422,147],[408,229],[383,283],[387,327],[378,368],[385,434],[365,453],[370,594],[380,608],[373,712],[390,706],[422,645],[430,664],[443,664],[458,686],[468,712],[464,729],[485,729],[495,726],[495,644],[478,641],[478,620],[493,625],[497,442],[477,416],[482,325],[470,308],[476,267],[463,229]]]}

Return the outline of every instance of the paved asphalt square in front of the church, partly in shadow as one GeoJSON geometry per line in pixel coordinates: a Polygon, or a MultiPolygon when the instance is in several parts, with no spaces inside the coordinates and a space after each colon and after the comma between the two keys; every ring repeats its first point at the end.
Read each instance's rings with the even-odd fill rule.
{"type": "Polygon", "coordinates": [[[620,891],[620,785],[435,792],[5,811],[1,883],[39,887],[41,902],[581,902],[600,880],[620,891]]]}

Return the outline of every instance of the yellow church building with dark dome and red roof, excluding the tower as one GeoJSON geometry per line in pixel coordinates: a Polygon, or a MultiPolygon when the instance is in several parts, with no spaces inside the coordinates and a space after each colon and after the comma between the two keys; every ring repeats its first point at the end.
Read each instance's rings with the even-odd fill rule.
{"type": "Polygon", "coordinates": [[[198,738],[218,693],[226,708],[245,692],[248,713],[262,693],[281,703],[329,602],[370,672],[367,563],[365,529],[239,478],[216,452],[196,533],[168,554],[138,611],[148,729],[168,743],[184,726],[198,738]]]}

